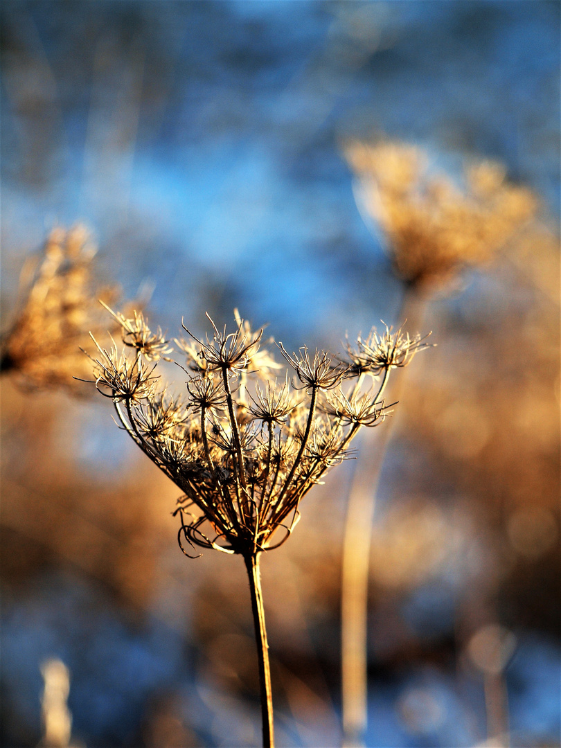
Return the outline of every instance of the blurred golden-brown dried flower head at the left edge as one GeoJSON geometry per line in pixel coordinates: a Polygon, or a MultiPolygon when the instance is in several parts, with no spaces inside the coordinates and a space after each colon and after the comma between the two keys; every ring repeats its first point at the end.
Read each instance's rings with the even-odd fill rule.
{"type": "Polygon", "coordinates": [[[83,393],[73,378],[89,373],[80,346],[87,343],[89,331],[105,342],[107,322],[98,299],[114,303],[118,295],[116,288],[96,282],[95,254],[84,227],[52,230],[30,282],[22,283],[14,322],[1,337],[1,373],[18,375],[28,387],[83,393]]]}

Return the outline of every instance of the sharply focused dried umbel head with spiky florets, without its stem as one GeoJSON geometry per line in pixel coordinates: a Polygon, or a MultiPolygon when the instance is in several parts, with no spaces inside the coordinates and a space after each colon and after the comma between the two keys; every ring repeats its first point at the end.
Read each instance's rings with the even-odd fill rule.
{"type": "Polygon", "coordinates": [[[351,346],[348,361],[306,348],[289,354],[279,346],[298,384],[288,373],[272,375],[280,364],[260,351],[262,330],[252,331],[238,316],[236,329],[227,333],[209,317],[210,337],[202,340],[184,328],[193,342],[178,341],[188,375],[183,402],[168,395],[153,373],[157,362],[143,361],[154,362],[152,344],[162,352],[161,333],[154,336],[144,319],[138,324],[137,317],[114,317],[122,322],[124,343],[135,340],[135,354],[130,347],[119,353],[98,346],[96,386],[113,399],[123,429],[183,491],[175,512],[180,545],[246,558],[282,545],[298,521],[302,497],[346,459],[361,426],[384,420],[381,394],[390,370],[423,347],[418,337],[390,331],[359,339],[372,358],[367,388],[351,346]]]}

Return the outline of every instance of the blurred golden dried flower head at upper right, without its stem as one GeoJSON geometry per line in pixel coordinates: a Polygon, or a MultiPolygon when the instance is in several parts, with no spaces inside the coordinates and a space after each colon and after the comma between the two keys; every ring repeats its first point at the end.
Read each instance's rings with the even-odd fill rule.
{"type": "Polygon", "coordinates": [[[396,274],[418,288],[441,286],[462,266],[485,263],[536,211],[533,194],[509,184],[492,162],[466,168],[459,188],[429,174],[428,156],[411,145],[355,142],[346,156],[396,274]]]}

